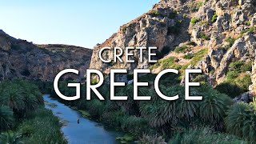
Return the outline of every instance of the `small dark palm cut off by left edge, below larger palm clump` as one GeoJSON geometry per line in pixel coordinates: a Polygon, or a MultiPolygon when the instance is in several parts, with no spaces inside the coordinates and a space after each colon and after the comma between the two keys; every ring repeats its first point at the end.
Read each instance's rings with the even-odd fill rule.
{"type": "Polygon", "coordinates": [[[14,113],[8,106],[0,106],[0,130],[9,129],[14,122],[14,113]]]}

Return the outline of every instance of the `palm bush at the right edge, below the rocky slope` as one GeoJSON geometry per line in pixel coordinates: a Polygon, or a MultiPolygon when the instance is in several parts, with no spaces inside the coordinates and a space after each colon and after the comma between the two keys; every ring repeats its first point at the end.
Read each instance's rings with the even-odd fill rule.
{"type": "Polygon", "coordinates": [[[255,104],[236,103],[227,112],[226,130],[242,138],[256,142],[256,106],[255,104]]]}

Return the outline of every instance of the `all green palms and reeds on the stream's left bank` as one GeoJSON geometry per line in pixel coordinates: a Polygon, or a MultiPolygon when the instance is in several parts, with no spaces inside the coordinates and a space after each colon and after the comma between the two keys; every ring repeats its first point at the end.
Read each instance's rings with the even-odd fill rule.
{"type": "Polygon", "coordinates": [[[58,118],[43,108],[38,86],[4,80],[0,95],[0,143],[66,143],[58,118]]]}

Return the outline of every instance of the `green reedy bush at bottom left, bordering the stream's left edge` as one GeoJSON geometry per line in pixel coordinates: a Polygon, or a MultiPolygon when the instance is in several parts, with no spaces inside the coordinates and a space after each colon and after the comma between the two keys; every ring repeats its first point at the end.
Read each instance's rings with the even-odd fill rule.
{"type": "Polygon", "coordinates": [[[29,138],[31,143],[66,144],[60,129],[58,118],[43,107],[30,114],[30,117],[18,126],[18,131],[29,138]]]}

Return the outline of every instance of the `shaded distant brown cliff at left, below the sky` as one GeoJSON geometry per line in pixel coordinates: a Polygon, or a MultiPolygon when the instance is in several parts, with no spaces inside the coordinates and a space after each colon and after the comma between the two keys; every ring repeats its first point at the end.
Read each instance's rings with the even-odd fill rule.
{"type": "Polygon", "coordinates": [[[90,66],[92,50],[66,45],[36,46],[10,37],[0,30],[0,79],[27,78],[53,81],[58,72],[66,68],[79,70],[79,76],[65,75],[63,78],[83,78],[90,66]]]}

